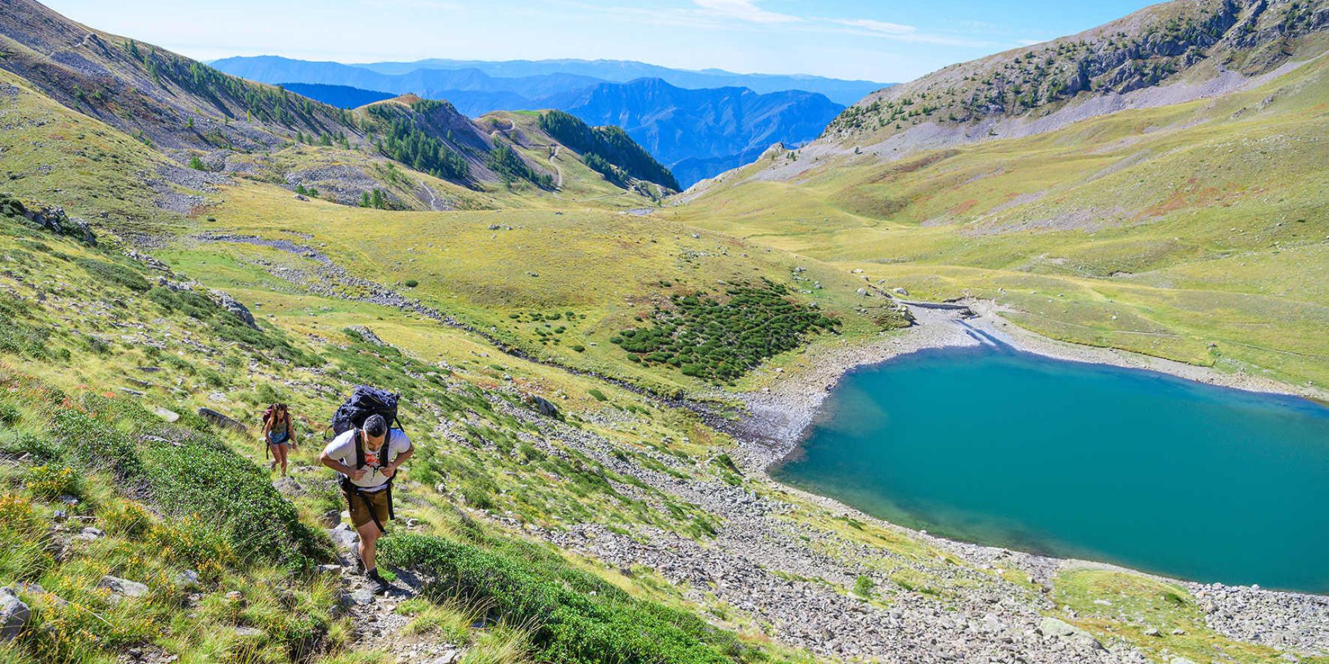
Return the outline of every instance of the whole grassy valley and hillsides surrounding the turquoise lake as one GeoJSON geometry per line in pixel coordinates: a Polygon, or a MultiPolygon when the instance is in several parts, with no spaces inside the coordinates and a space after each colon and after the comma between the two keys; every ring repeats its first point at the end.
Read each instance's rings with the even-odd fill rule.
{"type": "Polygon", "coordinates": [[[1320,0],[1166,3],[680,191],[609,114],[342,108],[5,1],[0,661],[1329,663],[1325,595],[767,474],[847,371],[983,339],[1325,401],[1326,46],[1320,0]],[[359,384],[417,448],[383,596],[316,461],[359,384]]]}

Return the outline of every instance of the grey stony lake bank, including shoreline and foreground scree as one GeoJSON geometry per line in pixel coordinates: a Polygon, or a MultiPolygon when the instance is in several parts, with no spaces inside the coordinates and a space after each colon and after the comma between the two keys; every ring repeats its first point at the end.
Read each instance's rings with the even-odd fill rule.
{"type": "MultiPolygon", "coordinates": [[[[1139,648],[1127,639],[1090,635],[1070,624],[1076,612],[1058,604],[1050,594],[1054,579],[1067,571],[1128,570],[909,530],[835,499],[781,485],[768,470],[797,448],[827,393],[845,372],[932,348],[995,341],[1053,359],[1148,369],[1212,385],[1318,400],[1329,394],[1259,376],[1224,374],[1135,353],[1049,340],[1002,320],[991,303],[973,303],[968,311],[913,307],[913,312],[917,324],[904,332],[882,335],[869,344],[809,349],[805,371],[791,371],[767,388],[746,393],[747,417],[732,420],[724,428],[740,441],[735,461],[746,473],[769,485],[772,493],[924,542],[961,560],[941,572],[950,575],[946,580],[953,582],[948,588],[956,599],[949,607],[938,610],[933,598],[917,592],[894,594],[889,608],[836,592],[827,582],[849,587],[857,576],[873,576],[884,560],[897,566],[912,563],[904,563],[889,551],[828,537],[825,531],[789,519],[789,513],[803,507],[769,494],[758,497],[728,486],[683,483],[667,477],[649,479],[726,519],[711,547],[671,535],[643,544],[597,527],[549,533],[549,539],[607,562],[650,566],[671,580],[699,586],[698,595],[710,586],[734,607],[775,625],[772,636],[827,655],[880,657],[881,661],[1204,661],[1180,655],[1160,657],[1159,651],[1139,648]],[[809,550],[808,542],[816,546],[809,550]],[[971,583],[973,575],[987,572],[997,572],[998,580],[1015,575],[1027,586],[971,583]],[[1027,587],[1035,592],[1027,594],[1027,587]]],[[[946,426],[940,422],[938,433],[946,426]]],[[[938,568],[928,567],[926,571],[937,574],[938,568]]],[[[1284,661],[1329,656],[1329,596],[1130,572],[1184,588],[1203,612],[1204,625],[1216,635],[1277,648],[1284,661]]],[[[1146,635],[1158,632],[1148,627],[1140,629],[1146,635]]],[[[1164,647],[1163,652],[1170,651],[1164,647]]]]}

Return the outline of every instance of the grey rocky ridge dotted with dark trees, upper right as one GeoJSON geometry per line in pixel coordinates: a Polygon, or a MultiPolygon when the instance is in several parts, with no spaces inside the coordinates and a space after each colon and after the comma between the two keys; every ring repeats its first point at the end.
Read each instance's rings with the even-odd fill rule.
{"type": "Polygon", "coordinates": [[[1115,110],[1092,106],[1096,97],[1150,88],[1171,89],[1158,92],[1160,104],[1188,101],[1212,94],[1204,84],[1215,78],[1318,54],[1326,28],[1324,0],[1176,0],[874,92],[835,118],[823,141],[869,146],[924,125],[982,139],[995,120],[1075,108],[1082,120],[1115,110]]]}

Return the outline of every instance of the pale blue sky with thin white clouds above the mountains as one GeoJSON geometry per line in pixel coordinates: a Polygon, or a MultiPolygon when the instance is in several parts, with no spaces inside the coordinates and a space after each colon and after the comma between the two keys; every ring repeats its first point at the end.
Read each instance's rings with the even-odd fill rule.
{"type": "Polygon", "coordinates": [[[908,81],[1071,35],[1142,0],[47,0],[198,60],[641,60],[684,69],[908,81]]]}

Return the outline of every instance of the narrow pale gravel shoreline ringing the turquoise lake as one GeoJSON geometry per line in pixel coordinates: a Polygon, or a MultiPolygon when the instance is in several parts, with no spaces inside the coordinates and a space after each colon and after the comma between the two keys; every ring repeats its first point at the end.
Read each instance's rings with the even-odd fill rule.
{"type": "MultiPolygon", "coordinates": [[[[971,303],[970,312],[960,309],[929,309],[913,307],[917,323],[897,333],[884,333],[869,343],[823,345],[809,348],[799,361],[801,371],[789,371],[759,392],[739,394],[748,414],[739,420],[716,422],[739,442],[735,461],[746,473],[783,487],[799,498],[832,513],[870,522],[878,527],[904,534],[960,555],[968,560],[987,564],[1014,566],[1030,575],[1031,583],[1051,583],[1059,572],[1076,568],[1116,570],[1185,588],[1204,610],[1207,624],[1225,636],[1263,645],[1289,648],[1301,655],[1329,653],[1329,637],[1304,633],[1292,628],[1297,620],[1289,616],[1329,615],[1329,595],[1298,591],[1268,590],[1260,586],[1227,586],[1175,579],[1112,563],[1055,558],[998,546],[950,539],[913,530],[848,506],[835,498],[815,494],[775,479],[771,470],[789,454],[797,453],[828,393],[849,372],[898,356],[945,348],[979,348],[997,340],[1011,349],[1042,357],[1111,365],[1128,369],[1152,371],[1209,385],[1245,392],[1296,396],[1310,400],[1329,400],[1329,393],[1296,388],[1269,378],[1247,374],[1224,374],[1204,367],[1142,356],[1124,351],[1083,347],[1055,341],[1019,328],[1001,319],[990,301],[971,303]],[[985,340],[983,337],[989,337],[985,340]]],[[[1312,619],[1318,623],[1317,619],[1312,619]]]]}

